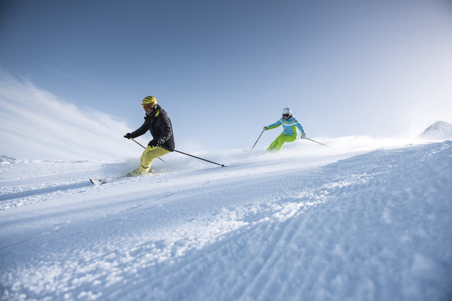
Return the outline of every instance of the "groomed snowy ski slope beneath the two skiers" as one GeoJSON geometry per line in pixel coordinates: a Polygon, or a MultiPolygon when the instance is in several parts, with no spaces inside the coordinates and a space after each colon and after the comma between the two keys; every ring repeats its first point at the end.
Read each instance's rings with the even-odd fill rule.
{"type": "Polygon", "coordinates": [[[304,146],[100,186],[136,162],[9,160],[1,300],[450,300],[452,142],[304,146]]]}

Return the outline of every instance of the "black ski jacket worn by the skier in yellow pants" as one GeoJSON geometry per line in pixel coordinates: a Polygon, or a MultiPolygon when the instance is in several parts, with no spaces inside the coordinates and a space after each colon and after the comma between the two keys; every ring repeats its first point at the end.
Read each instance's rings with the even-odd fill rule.
{"type": "Polygon", "coordinates": [[[176,145],[174,144],[171,121],[164,109],[158,104],[155,106],[155,113],[145,116],[143,125],[131,133],[131,137],[136,138],[149,130],[150,135],[153,135],[153,140],[151,141],[157,142],[157,146],[173,151],[176,145]]]}

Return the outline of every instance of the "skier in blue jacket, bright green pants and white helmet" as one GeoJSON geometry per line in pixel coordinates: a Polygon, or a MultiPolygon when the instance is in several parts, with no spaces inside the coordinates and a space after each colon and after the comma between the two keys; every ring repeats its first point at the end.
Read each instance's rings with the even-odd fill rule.
{"type": "Polygon", "coordinates": [[[267,148],[267,152],[270,151],[280,151],[283,148],[284,142],[294,142],[297,140],[298,130],[300,130],[301,139],[306,138],[303,127],[298,123],[297,119],[292,116],[292,110],[289,108],[283,109],[283,117],[273,124],[263,127],[263,130],[271,130],[272,128],[278,128],[278,126],[283,125],[283,133],[281,133],[275,141],[267,148]]]}

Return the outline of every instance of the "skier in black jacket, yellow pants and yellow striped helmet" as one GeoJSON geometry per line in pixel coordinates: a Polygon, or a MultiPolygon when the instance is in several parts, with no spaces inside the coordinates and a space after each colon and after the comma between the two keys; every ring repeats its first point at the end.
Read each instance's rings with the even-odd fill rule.
{"type": "Polygon", "coordinates": [[[141,106],[146,112],[144,123],[140,128],[132,133],[126,133],[125,138],[131,139],[145,134],[148,130],[153,135],[148,147],[141,155],[141,164],[136,170],[131,171],[127,176],[141,176],[150,171],[150,165],[154,159],[163,156],[174,150],[174,136],[172,125],[167,112],[157,104],[157,99],[153,96],[143,98],[141,106]]]}

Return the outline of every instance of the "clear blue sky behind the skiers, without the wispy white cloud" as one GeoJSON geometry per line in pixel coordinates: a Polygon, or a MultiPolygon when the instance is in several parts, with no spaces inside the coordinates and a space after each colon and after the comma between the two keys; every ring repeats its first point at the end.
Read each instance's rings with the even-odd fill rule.
{"type": "Polygon", "coordinates": [[[286,106],[313,139],[452,122],[447,0],[6,0],[0,45],[2,76],[130,130],[154,95],[181,150],[251,148],[286,106]]]}

